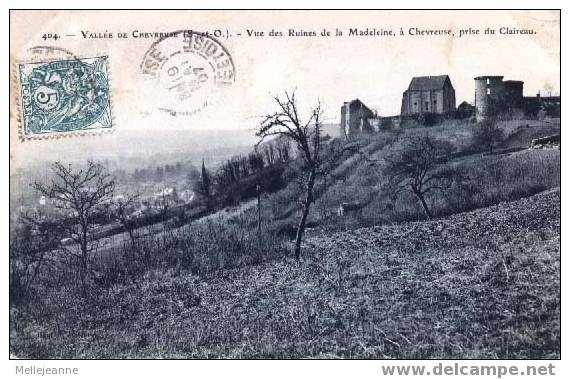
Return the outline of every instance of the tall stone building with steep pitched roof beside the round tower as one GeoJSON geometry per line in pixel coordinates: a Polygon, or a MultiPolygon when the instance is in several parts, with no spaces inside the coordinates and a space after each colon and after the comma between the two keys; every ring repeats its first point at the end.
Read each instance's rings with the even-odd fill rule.
{"type": "Polygon", "coordinates": [[[449,75],[413,77],[402,96],[402,116],[455,111],[455,89],[449,75]]]}

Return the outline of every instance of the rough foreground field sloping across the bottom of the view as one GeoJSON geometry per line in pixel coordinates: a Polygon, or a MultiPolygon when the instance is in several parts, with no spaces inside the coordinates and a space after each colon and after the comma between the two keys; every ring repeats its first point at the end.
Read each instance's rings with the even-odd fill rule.
{"type": "Polygon", "coordinates": [[[560,191],[430,222],[312,231],[301,264],[283,258],[201,278],[154,270],[97,296],[83,307],[56,292],[27,316],[35,321],[12,308],[11,352],[556,359],[560,191]]]}

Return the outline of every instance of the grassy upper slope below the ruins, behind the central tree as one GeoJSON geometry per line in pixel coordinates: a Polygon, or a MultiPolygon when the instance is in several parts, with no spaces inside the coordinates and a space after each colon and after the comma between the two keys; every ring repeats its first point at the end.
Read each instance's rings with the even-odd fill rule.
{"type": "MultiPolygon", "coordinates": [[[[401,149],[406,138],[424,133],[453,145],[457,157],[448,167],[462,172],[464,177],[463,182],[455,183],[444,193],[426,195],[436,217],[516,200],[559,185],[560,151],[528,149],[533,138],[560,133],[559,123],[513,120],[500,122],[499,127],[505,141],[493,153],[473,147],[475,124],[466,120],[448,120],[426,128],[386,130],[357,140],[359,151],[336,161],[326,183],[319,176],[316,201],[309,216],[311,225],[338,230],[424,219],[417,199],[407,193],[393,199],[389,189],[383,188],[387,182],[386,158],[401,149]],[[527,124],[531,127],[527,128],[527,124]],[[343,202],[365,206],[339,219],[337,209],[343,202]]],[[[271,206],[262,209],[263,218],[272,220],[277,232],[295,227],[298,198],[296,182],[269,194],[266,203],[271,206]]]]}

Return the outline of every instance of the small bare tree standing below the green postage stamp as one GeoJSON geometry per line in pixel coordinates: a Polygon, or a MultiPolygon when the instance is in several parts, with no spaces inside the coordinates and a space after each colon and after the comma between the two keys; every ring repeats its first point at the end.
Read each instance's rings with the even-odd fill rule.
{"type": "MultiPolygon", "coordinates": [[[[106,212],[111,204],[115,180],[101,163],[87,162],[87,167],[74,169],[71,164],[55,162],[53,179],[49,184],[35,182],[33,187],[53,200],[62,212],[62,226],[79,246],[79,273],[86,291],[85,279],[89,272],[90,255],[95,249],[93,229],[96,217],[106,212]]],[[[72,253],[73,254],[73,253],[72,253]]]]}

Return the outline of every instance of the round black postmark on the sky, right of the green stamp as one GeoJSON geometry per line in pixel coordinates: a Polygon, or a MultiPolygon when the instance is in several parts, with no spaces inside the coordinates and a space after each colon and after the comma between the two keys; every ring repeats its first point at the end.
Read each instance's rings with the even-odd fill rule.
{"type": "Polygon", "coordinates": [[[235,81],[228,50],[216,38],[192,30],[167,33],[154,42],[140,70],[153,83],[156,107],[173,116],[200,112],[217,90],[235,81]]]}

